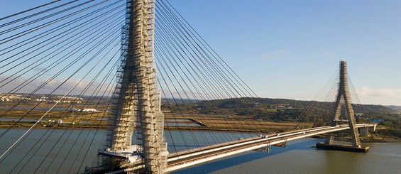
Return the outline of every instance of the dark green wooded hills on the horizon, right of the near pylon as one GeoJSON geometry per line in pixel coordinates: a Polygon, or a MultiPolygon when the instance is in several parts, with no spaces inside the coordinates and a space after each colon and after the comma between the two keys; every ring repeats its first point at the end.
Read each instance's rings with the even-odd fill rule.
{"type": "MultiPolygon", "coordinates": [[[[253,119],[270,121],[309,121],[314,122],[314,126],[324,126],[329,123],[333,103],[292,99],[234,98],[170,104],[163,102],[162,109],[183,113],[249,116],[253,119]],[[314,106],[313,109],[308,109],[311,104],[314,106]]],[[[394,112],[390,108],[381,105],[353,104],[353,109],[356,113],[363,113],[363,117],[357,118],[358,122],[368,122],[376,118],[385,120],[386,123],[383,124],[388,126],[401,127],[401,117],[390,114],[394,112]]]]}

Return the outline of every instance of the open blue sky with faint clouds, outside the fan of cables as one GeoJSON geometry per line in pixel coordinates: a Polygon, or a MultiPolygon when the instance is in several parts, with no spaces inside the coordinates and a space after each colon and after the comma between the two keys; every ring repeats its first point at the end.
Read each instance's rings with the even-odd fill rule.
{"type": "MultiPolygon", "coordinates": [[[[49,1],[26,2],[0,16],[49,1]]],[[[170,3],[259,97],[313,99],[346,60],[362,104],[401,106],[401,1],[170,3]]]]}

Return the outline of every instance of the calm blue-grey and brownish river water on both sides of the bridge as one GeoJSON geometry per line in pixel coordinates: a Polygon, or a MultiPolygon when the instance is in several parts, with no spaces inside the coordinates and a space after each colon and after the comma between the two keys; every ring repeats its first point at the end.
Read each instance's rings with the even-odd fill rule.
{"type": "MultiPolygon", "coordinates": [[[[1,137],[0,153],[3,154],[26,130],[11,129],[1,137]]],[[[0,134],[4,131],[0,129],[0,134]]],[[[9,156],[0,159],[0,173],[77,173],[96,161],[96,149],[101,148],[104,132],[102,129],[34,130],[17,148],[7,153],[9,156]],[[86,153],[87,149],[93,150],[86,153]]],[[[173,153],[187,146],[194,148],[251,135],[166,131],[165,136],[169,151],[173,153]],[[175,147],[171,146],[173,143],[170,136],[174,137],[175,147]],[[194,138],[199,141],[194,141],[194,138]]],[[[368,153],[350,153],[318,150],[314,144],[319,141],[324,139],[303,138],[290,141],[287,148],[273,146],[270,153],[241,153],[174,173],[401,173],[401,142],[363,143],[364,146],[370,146],[368,153]]]]}

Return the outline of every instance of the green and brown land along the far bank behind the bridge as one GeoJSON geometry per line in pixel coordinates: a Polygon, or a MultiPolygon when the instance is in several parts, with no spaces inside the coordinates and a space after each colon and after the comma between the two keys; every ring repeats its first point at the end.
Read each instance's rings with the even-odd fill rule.
{"type": "MultiPolygon", "coordinates": [[[[101,101],[104,106],[107,101],[101,101]]],[[[2,103],[3,105],[4,103],[2,103]]],[[[32,106],[33,103],[24,103],[24,106],[32,106]]],[[[166,126],[167,129],[209,129],[209,130],[236,130],[236,131],[258,131],[265,129],[262,125],[268,124],[274,129],[288,129],[288,127],[325,126],[329,124],[329,116],[333,109],[332,102],[300,101],[293,99],[268,99],[268,98],[236,98],[236,99],[216,99],[209,101],[185,100],[182,102],[172,102],[171,99],[162,99],[162,110],[165,112],[166,119],[197,119],[207,126],[166,126]],[[309,106],[314,106],[312,112],[309,106]],[[255,126],[254,130],[248,130],[247,121],[258,121],[260,126],[255,126]],[[226,124],[226,123],[230,124],[226,124]]],[[[8,107],[7,105],[2,107],[8,107]]],[[[49,105],[40,105],[46,108],[49,105]]],[[[52,111],[45,116],[44,120],[62,120],[67,124],[52,125],[53,127],[81,127],[81,128],[105,128],[107,116],[106,108],[97,108],[102,112],[71,112],[72,106],[68,104],[57,105],[58,108],[65,110],[52,111]],[[70,109],[67,109],[70,108],[70,109]],[[85,123],[84,123],[85,122],[85,123]],[[74,124],[73,124],[74,123],[74,124]]],[[[94,102],[89,105],[83,103],[74,105],[75,108],[95,108],[94,102]]],[[[358,123],[378,122],[385,126],[385,129],[378,131],[380,136],[400,137],[401,116],[397,111],[382,105],[372,104],[353,104],[353,109],[358,114],[358,123]]],[[[0,112],[6,112],[6,108],[0,107],[0,112]],[[2,110],[1,110],[2,109],[2,110]]],[[[11,110],[3,118],[21,118],[28,110],[11,110]]],[[[38,119],[46,111],[32,110],[25,119],[38,119]]],[[[11,121],[0,122],[0,127],[31,126],[33,122],[23,121],[14,123],[11,121]]],[[[38,125],[39,126],[39,125],[38,125]]],[[[44,127],[43,124],[40,126],[44,127]]]]}

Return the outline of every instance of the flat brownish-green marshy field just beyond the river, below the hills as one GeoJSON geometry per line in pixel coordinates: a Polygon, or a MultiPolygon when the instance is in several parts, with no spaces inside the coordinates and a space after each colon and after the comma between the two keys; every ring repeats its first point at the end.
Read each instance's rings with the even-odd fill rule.
{"type": "MultiPolygon", "coordinates": [[[[7,112],[2,109],[0,113],[7,112]]],[[[41,110],[12,110],[1,118],[19,119],[21,121],[4,121],[0,119],[0,127],[30,127],[40,119],[46,111],[41,110]]],[[[43,117],[37,127],[55,126],[65,128],[78,126],[82,128],[106,128],[106,112],[70,112],[52,111],[43,117]],[[53,124],[49,120],[62,120],[62,124],[53,124]]],[[[312,123],[273,122],[251,119],[250,116],[222,116],[204,114],[171,114],[165,113],[166,129],[196,129],[215,131],[285,131],[297,127],[311,127],[312,123]],[[177,126],[175,126],[177,124],[177,126]],[[189,126],[187,126],[189,125],[189,126]],[[191,126],[192,125],[192,126],[191,126]]]]}

